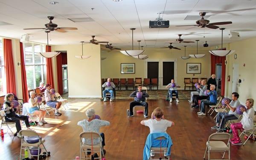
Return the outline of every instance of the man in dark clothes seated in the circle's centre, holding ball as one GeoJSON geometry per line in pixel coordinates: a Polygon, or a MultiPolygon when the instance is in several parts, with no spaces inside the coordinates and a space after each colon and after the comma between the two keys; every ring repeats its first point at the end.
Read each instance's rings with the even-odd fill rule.
{"type": "Polygon", "coordinates": [[[145,98],[149,97],[148,93],[142,90],[142,86],[138,85],[138,90],[135,90],[130,94],[130,97],[134,97],[134,101],[130,103],[130,110],[128,117],[134,116],[133,108],[136,105],[142,105],[145,107],[144,117],[148,117],[148,102],[145,102],[145,98]]]}

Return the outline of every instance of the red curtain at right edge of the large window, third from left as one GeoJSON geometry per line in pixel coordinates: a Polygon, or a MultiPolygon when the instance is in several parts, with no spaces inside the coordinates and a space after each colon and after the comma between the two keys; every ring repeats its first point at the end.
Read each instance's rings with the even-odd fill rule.
{"type": "MultiPolygon", "coordinates": [[[[46,46],[46,52],[51,52],[51,46],[46,46]]],[[[54,81],[53,81],[53,73],[52,73],[52,58],[46,58],[46,73],[47,73],[47,83],[52,85],[54,88],[54,81]]]]}

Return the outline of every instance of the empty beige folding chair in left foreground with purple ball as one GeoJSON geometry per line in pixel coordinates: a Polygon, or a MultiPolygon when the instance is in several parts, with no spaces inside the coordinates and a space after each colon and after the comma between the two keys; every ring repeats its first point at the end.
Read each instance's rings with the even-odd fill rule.
{"type": "MultiPolygon", "coordinates": [[[[40,151],[41,148],[44,149],[47,153],[47,156],[50,155],[50,152],[47,151],[47,149],[45,148],[44,146],[44,142],[45,142],[45,139],[39,137],[39,135],[35,132],[35,131],[32,131],[32,130],[20,130],[20,136],[21,136],[21,145],[20,145],[20,160],[22,159],[22,157],[25,157],[25,150],[28,149],[28,148],[32,148],[34,150],[38,150],[38,155],[33,155],[33,156],[37,156],[38,160],[39,160],[39,154],[40,154],[40,151]],[[39,141],[37,143],[27,143],[27,137],[38,137],[39,141]],[[41,145],[43,147],[41,147],[41,145]],[[22,150],[24,150],[24,154],[22,152],[22,150]]],[[[28,154],[30,154],[30,152],[28,151],[28,154]]]]}

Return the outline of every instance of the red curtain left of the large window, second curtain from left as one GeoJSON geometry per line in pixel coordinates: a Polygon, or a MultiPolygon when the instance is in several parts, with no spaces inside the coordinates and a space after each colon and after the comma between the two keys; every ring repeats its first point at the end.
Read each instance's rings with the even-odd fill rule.
{"type": "Polygon", "coordinates": [[[29,102],[28,86],[26,81],[26,69],[24,61],[23,44],[20,42],[20,67],[21,67],[21,84],[22,84],[22,97],[24,102],[29,102]]]}

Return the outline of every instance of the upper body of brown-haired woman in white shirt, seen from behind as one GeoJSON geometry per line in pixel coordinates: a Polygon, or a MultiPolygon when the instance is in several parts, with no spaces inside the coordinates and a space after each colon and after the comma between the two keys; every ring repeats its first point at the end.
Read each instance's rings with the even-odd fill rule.
{"type": "Polygon", "coordinates": [[[140,122],[140,124],[148,126],[150,133],[165,132],[167,127],[175,125],[174,122],[164,119],[163,111],[161,108],[157,107],[154,109],[151,119],[145,119],[140,122]],[[155,119],[154,119],[155,116],[155,119]]]}

